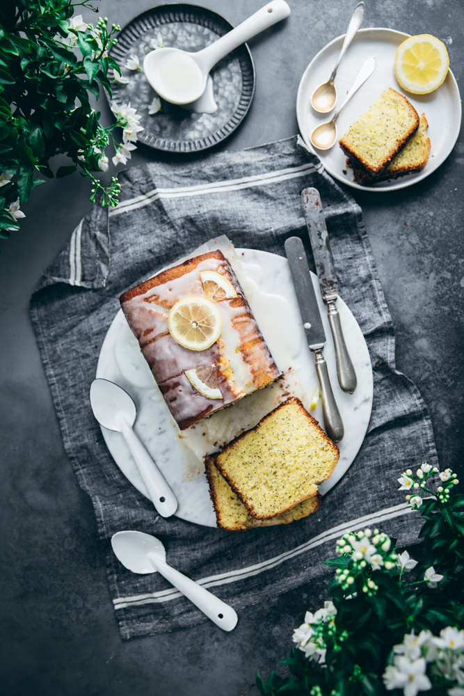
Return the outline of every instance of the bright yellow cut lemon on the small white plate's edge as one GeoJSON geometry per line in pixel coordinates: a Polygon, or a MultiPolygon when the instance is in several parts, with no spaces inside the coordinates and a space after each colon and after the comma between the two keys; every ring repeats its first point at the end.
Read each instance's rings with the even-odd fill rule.
{"type": "Polygon", "coordinates": [[[429,94],[440,87],[448,68],[445,44],[431,34],[410,36],[399,45],[394,59],[399,84],[413,94],[429,94]]]}

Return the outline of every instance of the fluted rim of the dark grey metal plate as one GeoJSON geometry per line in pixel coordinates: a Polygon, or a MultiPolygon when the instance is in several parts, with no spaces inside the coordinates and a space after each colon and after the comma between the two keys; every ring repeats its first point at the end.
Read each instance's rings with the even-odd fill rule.
{"type": "MultiPolygon", "coordinates": [[[[122,29],[118,32],[118,38],[120,38],[122,33],[124,31],[126,31],[131,26],[131,24],[133,24],[137,20],[142,20],[146,15],[150,15],[151,13],[158,12],[158,11],[162,12],[163,9],[167,9],[167,8],[172,8],[173,10],[175,10],[175,8],[191,8],[192,12],[201,11],[201,12],[207,13],[209,15],[215,15],[216,17],[219,17],[223,22],[225,22],[225,24],[230,26],[231,30],[234,29],[234,25],[231,24],[231,22],[229,22],[228,19],[223,17],[223,15],[220,15],[215,10],[211,10],[210,8],[203,7],[200,5],[193,5],[191,3],[173,2],[173,3],[163,3],[162,5],[157,5],[157,6],[154,6],[152,8],[148,8],[147,10],[144,10],[139,15],[136,15],[136,17],[132,17],[132,19],[129,19],[129,22],[127,22],[127,24],[125,24],[125,26],[123,26],[122,29]]],[[[112,49],[113,49],[113,51],[110,50],[110,55],[112,52],[116,52],[118,50],[118,44],[116,44],[114,47],[112,47],[112,49]]],[[[182,155],[189,155],[190,153],[204,152],[205,150],[209,150],[210,148],[214,148],[216,145],[218,145],[219,143],[222,143],[225,139],[227,139],[229,136],[231,136],[232,133],[234,133],[237,130],[237,128],[241,125],[241,123],[245,119],[248,111],[250,110],[250,106],[253,102],[253,98],[255,97],[255,90],[256,90],[256,68],[255,68],[255,61],[253,61],[253,56],[252,56],[251,51],[250,51],[250,47],[248,46],[248,43],[245,42],[245,43],[241,44],[235,50],[238,51],[240,49],[244,49],[244,51],[246,52],[246,57],[250,61],[250,70],[251,70],[251,74],[252,74],[252,86],[251,86],[250,95],[248,97],[248,104],[246,104],[245,109],[240,114],[238,122],[235,123],[234,125],[232,125],[229,132],[227,132],[226,134],[221,134],[221,136],[218,136],[218,139],[212,143],[207,142],[207,141],[209,139],[211,139],[211,137],[214,134],[209,134],[208,136],[206,136],[204,138],[196,139],[196,140],[166,141],[166,139],[161,139],[159,137],[155,138],[154,136],[152,137],[152,140],[154,142],[149,142],[148,140],[145,141],[141,137],[139,137],[138,140],[141,143],[143,143],[143,145],[146,145],[147,147],[152,148],[153,150],[158,150],[159,152],[172,152],[174,154],[179,153],[182,155]],[[154,144],[154,143],[157,143],[157,141],[165,141],[167,143],[166,147],[162,147],[161,145],[154,144]],[[198,146],[197,143],[202,143],[202,145],[198,146]],[[190,147],[187,147],[188,145],[190,147]]],[[[243,72],[242,72],[242,76],[243,76],[243,72]]],[[[116,86],[117,86],[117,84],[116,84],[116,86]]],[[[105,90],[105,95],[106,95],[107,102],[109,104],[111,104],[111,101],[115,97],[114,96],[110,97],[109,94],[106,92],[106,90],[105,90]]],[[[242,95],[243,95],[243,90],[242,90],[242,95]]],[[[218,129],[215,132],[215,134],[221,133],[221,131],[224,128],[226,128],[227,125],[230,124],[231,120],[237,114],[239,107],[240,107],[240,104],[239,104],[239,106],[237,106],[237,109],[235,109],[234,113],[232,114],[232,117],[227,121],[227,123],[225,123],[223,126],[221,126],[221,128],[218,129]]],[[[145,132],[145,129],[143,132],[145,132]]],[[[143,132],[141,133],[141,136],[143,136],[143,132]]]]}

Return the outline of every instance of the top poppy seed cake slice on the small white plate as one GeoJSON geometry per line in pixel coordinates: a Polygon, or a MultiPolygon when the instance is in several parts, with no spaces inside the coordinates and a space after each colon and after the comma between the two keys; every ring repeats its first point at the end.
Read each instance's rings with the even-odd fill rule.
{"type": "Polygon", "coordinates": [[[408,143],[419,127],[413,104],[388,88],[356,120],[339,145],[353,165],[376,177],[408,143]]]}

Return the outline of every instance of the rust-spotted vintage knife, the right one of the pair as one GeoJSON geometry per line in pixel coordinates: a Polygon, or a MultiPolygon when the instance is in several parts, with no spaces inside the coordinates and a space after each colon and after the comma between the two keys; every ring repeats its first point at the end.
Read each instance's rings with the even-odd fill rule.
{"type": "Polygon", "coordinates": [[[346,348],[340,315],[337,310],[337,275],[335,274],[333,258],[330,253],[321,196],[319,196],[317,189],[304,189],[301,191],[301,198],[303,200],[314,263],[316,264],[317,277],[319,278],[319,286],[321,287],[323,301],[327,305],[328,320],[330,329],[332,329],[338,382],[344,392],[353,394],[358,381],[355,368],[346,348]]]}

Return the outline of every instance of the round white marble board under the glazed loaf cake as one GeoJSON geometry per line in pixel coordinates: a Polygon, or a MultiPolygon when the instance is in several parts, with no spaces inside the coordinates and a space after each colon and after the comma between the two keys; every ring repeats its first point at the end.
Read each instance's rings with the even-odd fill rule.
{"type": "MultiPolygon", "coordinates": [[[[236,251],[241,255],[241,266],[247,278],[247,299],[275,361],[279,365],[278,355],[282,354],[283,337],[285,349],[298,371],[301,386],[310,397],[314,386],[317,385],[314,358],[307,347],[287,259],[253,249],[237,249],[236,251]]],[[[324,355],[333,393],[345,426],[344,439],[339,443],[339,463],[330,479],[319,489],[320,493],[326,493],[346,473],[365,437],[371,416],[373,381],[371,360],[365,338],[355,317],[344,301],[339,298],[337,306],[346,345],[358,375],[358,388],[353,395],[345,394],[339,388],[327,310],[319,290],[317,276],[314,274],[312,274],[312,281],[327,337],[324,355]]],[[[185,453],[179,447],[180,431],[154,382],[150,367],[141,356],[138,342],[131,333],[122,310],[115,316],[104,339],[96,377],[110,379],[120,384],[136,402],[136,433],[157,461],[177,496],[179,507],[176,515],[191,522],[215,527],[216,516],[209,498],[206,477],[201,474],[195,480],[185,480],[186,462],[185,453]]],[[[320,404],[313,415],[322,425],[320,404]]],[[[147,489],[122,435],[103,427],[102,433],[122,473],[148,498],[147,489]]]]}

